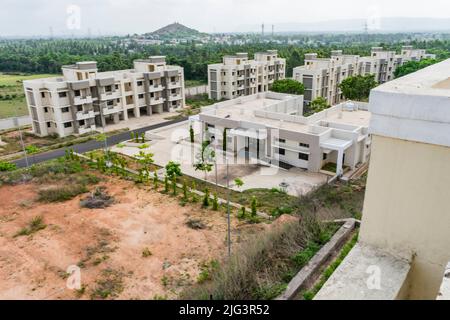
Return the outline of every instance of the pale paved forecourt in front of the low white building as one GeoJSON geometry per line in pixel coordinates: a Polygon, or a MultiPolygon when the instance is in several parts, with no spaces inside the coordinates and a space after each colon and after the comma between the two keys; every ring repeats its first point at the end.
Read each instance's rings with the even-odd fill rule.
{"type": "MultiPolygon", "coordinates": [[[[201,129],[194,123],[196,137],[201,129]]],[[[189,123],[183,122],[146,133],[148,148],[140,149],[136,146],[115,146],[112,151],[128,156],[136,156],[144,151],[153,153],[155,164],[164,167],[169,161],[181,164],[183,174],[197,179],[206,179],[219,185],[227,185],[227,160],[221,150],[216,150],[215,162],[212,170],[206,175],[203,171],[196,171],[194,164],[201,153],[199,143],[190,143],[189,123]]],[[[198,140],[198,139],[196,139],[198,140]]],[[[300,168],[290,170],[276,166],[266,166],[243,158],[236,158],[228,154],[228,173],[230,187],[234,190],[247,190],[255,188],[280,188],[293,196],[301,196],[312,189],[326,183],[327,176],[322,173],[312,173],[300,168]],[[238,188],[234,179],[240,178],[244,185],[238,188]]]]}

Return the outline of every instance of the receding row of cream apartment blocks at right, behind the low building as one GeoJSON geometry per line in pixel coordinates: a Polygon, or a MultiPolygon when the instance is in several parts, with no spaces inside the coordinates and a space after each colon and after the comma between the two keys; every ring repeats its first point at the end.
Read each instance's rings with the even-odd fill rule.
{"type": "Polygon", "coordinates": [[[293,70],[293,78],[305,86],[305,104],[317,97],[327,99],[331,105],[343,101],[339,85],[354,75],[375,75],[382,84],[394,79],[394,72],[405,62],[434,58],[425,50],[403,46],[401,53],[373,47],[370,56],[344,55],[341,50],[333,50],[330,58],[318,58],[316,53],[305,55],[305,64],[293,70]]]}

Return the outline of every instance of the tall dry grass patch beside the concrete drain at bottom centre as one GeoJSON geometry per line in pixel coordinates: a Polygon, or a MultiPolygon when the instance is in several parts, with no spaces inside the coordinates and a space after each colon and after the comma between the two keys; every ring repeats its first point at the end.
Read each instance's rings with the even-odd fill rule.
{"type": "Polygon", "coordinates": [[[310,242],[322,243],[336,229],[336,225],[305,218],[260,234],[236,247],[230,260],[217,264],[216,269],[202,269],[200,281],[187,288],[181,298],[273,299],[300,270],[292,257],[310,242]]]}

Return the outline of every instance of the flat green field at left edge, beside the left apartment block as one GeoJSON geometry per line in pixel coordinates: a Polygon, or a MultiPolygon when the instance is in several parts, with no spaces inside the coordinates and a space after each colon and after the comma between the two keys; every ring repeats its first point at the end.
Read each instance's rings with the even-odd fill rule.
{"type": "Polygon", "coordinates": [[[0,73],[0,119],[28,114],[22,85],[24,80],[55,76],[57,75],[0,73]]]}

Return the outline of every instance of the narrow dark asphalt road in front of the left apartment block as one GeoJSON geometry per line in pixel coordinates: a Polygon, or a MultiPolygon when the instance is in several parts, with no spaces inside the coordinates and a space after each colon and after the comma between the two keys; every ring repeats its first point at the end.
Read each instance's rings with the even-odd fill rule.
{"type": "MultiPolygon", "coordinates": [[[[179,122],[186,121],[186,120],[187,120],[187,118],[179,119],[179,120],[170,120],[170,121],[154,124],[151,126],[139,128],[136,130],[132,130],[132,131],[138,132],[139,134],[141,134],[141,133],[144,133],[149,130],[166,127],[171,124],[179,123],[179,122]]],[[[126,132],[122,132],[122,133],[108,137],[107,142],[108,142],[108,146],[112,146],[112,145],[118,144],[120,142],[129,140],[129,139],[130,139],[130,131],[126,131],[126,132]]],[[[30,156],[28,156],[28,164],[32,165],[35,163],[40,163],[40,162],[44,162],[47,160],[64,157],[66,149],[73,149],[75,152],[85,153],[88,151],[103,148],[104,145],[105,145],[105,143],[103,141],[90,140],[90,141],[76,144],[76,145],[73,145],[70,147],[56,149],[56,150],[48,151],[45,153],[39,153],[36,155],[30,155],[30,156]]],[[[23,168],[26,166],[25,158],[18,159],[18,160],[12,161],[12,162],[15,163],[17,165],[17,167],[19,167],[19,168],[23,168]]]]}

